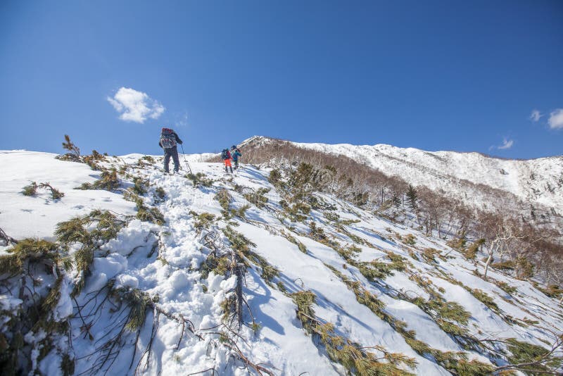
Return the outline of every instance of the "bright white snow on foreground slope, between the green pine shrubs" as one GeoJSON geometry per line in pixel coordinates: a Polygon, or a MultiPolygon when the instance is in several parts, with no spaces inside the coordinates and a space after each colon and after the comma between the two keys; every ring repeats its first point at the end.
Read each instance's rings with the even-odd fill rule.
{"type": "MultiPolygon", "coordinates": [[[[53,239],[56,223],[68,220],[75,215],[84,215],[94,208],[102,208],[123,215],[134,214],[134,203],[122,199],[118,193],[106,191],[82,191],[72,188],[82,182],[93,182],[98,174],[82,163],[57,161],[54,155],[24,151],[0,152],[0,165],[6,171],[1,177],[0,227],[6,233],[18,239],[23,237],[42,237],[53,239]],[[32,166],[22,167],[33,162],[32,166]],[[18,167],[11,167],[18,166],[18,167]],[[49,177],[51,179],[49,180],[49,177]],[[56,178],[53,178],[56,177],[56,178]],[[30,180],[51,184],[65,193],[65,196],[52,201],[43,196],[27,197],[20,190],[30,180]],[[4,207],[5,206],[5,207],[4,207]],[[80,206],[80,207],[79,207],[80,206]],[[33,212],[33,222],[28,208],[33,212]]],[[[439,156],[439,155],[438,155],[439,156]]],[[[211,187],[194,187],[182,175],[166,175],[158,166],[150,165],[143,169],[134,169],[132,165],[141,155],[129,155],[120,161],[131,165],[130,170],[148,179],[151,192],[156,187],[164,189],[165,199],[161,202],[151,198],[151,192],[144,201],[155,206],[165,216],[165,225],[158,226],[138,219],[129,220],[115,239],[101,245],[96,253],[87,277],[84,291],[76,301],[70,298],[73,280],[77,277],[72,271],[65,276],[61,287],[61,299],[56,308],[56,318],[70,320],[70,337],[58,339],[56,349],[35,361],[39,370],[46,375],[60,374],[61,353],[70,351],[75,357],[75,375],[110,374],[131,375],[139,364],[139,372],[146,375],[190,374],[214,368],[220,375],[248,375],[248,370],[241,361],[236,361],[232,351],[222,346],[220,328],[222,323],[222,302],[232,294],[236,277],[224,277],[210,272],[207,278],[201,278],[201,265],[211,253],[205,246],[203,236],[210,230],[218,230],[222,242],[228,240],[221,230],[229,223],[236,232],[240,232],[255,244],[252,250],[265,258],[267,263],[279,270],[279,276],[268,283],[261,276],[261,268],[251,265],[246,270],[243,294],[255,322],[260,326],[251,328],[252,317],[245,308],[241,331],[236,335],[236,344],[242,353],[255,364],[274,372],[275,375],[345,375],[346,370],[329,360],[326,351],[318,347],[312,338],[305,334],[296,317],[296,305],[292,299],[276,287],[282,282],[289,293],[310,290],[317,296],[315,313],[322,320],[335,325],[335,331],[357,342],[361,346],[383,346],[387,351],[403,353],[415,358],[417,366],[413,370],[417,375],[448,375],[450,372],[436,363],[431,356],[422,356],[414,351],[405,339],[382,320],[367,306],[356,299],[353,291],[327,266],[335,268],[346,278],[360,282],[361,286],[377,299],[385,303],[384,311],[398,320],[407,323],[407,330],[415,330],[416,338],[424,341],[433,349],[440,351],[463,351],[469,360],[476,359],[483,363],[490,360],[482,353],[467,351],[453,337],[443,332],[434,320],[415,304],[397,299],[393,291],[403,292],[407,296],[420,296],[429,299],[430,295],[417,282],[410,278],[410,273],[420,275],[432,282],[435,289],[441,288],[441,295],[447,301],[455,301],[471,314],[467,330],[479,338],[517,338],[547,348],[552,341],[552,332],[563,331],[563,310],[555,300],[543,295],[529,282],[514,280],[512,277],[491,270],[491,280],[507,282],[517,287],[517,293],[511,296],[491,282],[482,280],[473,274],[473,270],[482,270],[482,263],[467,261],[456,251],[452,251],[443,240],[426,238],[420,232],[395,225],[388,220],[375,217],[372,213],[353,208],[350,204],[331,196],[319,195],[339,210],[342,220],[359,220],[358,223],[344,225],[350,233],[363,239],[366,244],[356,244],[361,252],[355,256],[357,261],[388,261],[387,253],[396,253],[408,261],[409,270],[393,271],[378,284],[369,282],[358,268],[349,265],[334,249],[315,241],[308,236],[309,227],[305,223],[280,221],[274,211],[280,211],[277,204],[279,195],[267,182],[269,170],[258,170],[245,165],[234,175],[225,175],[220,163],[194,162],[190,158],[194,173],[204,173],[213,179],[211,187]],[[198,233],[194,213],[211,213],[216,218],[221,216],[220,203],[214,199],[221,188],[227,189],[233,201],[230,208],[241,208],[248,204],[242,194],[234,190],[235,184],[251,189],[272,189],[267,197],[267,208],[251,205],[246,211],[246,218],[220,219],[208,230],[198,233]],[[291,227],[291,229],[290,229],[291,227]],[[391,230],[391,231],[390,231],[391,230]],[[307,253],[300,251],[296,244],[282,236],[282,232],[291,234],[303,243],[307,253]],[[396,234],[404,237],[413,234],[415,246],[406,246],[396,239],[396,234]],[[153,251],[154,244],[160,244],[153,251]],[[449,253],[445,261],[436,257],[435,263],[416,260],[410,251],[419,254],[422,249],[434,248],[442,254],[449,253]],[[481,289],[493,297],[500,310],[521,320],[537,320],[537,325],[524,327],[511,325],[498,313],[485,306],[481,301],[459,284],[448,280],[449,277],[472,289],[481,289]],[[188,330],[182,331],[182,325],[162,313],[148,309],[144,325],[136,337],[132,333],[122,337],[120,353],[113,362],[103,368],[92,369],[103,341],[118,333],[118,325],[125,322],[123,311],[110,304],[92,314],[93,324],[85,332],[84,322],[77,317],[77,306],[87,312],[94,309],[99,299],[93,296],[104,289],[108,283],[117,289],[138,289],[151,298],[158,297],[156,304],[164,312],[178,317],[182,315],[194,325],[196,337],[188,330]],[[442,292],[443,291],[443,292],[442,292]],[[506,300],[504,300],[504,299],[506,300]],[[158,320],[156,320],[158,315],[158,320]],[[91,334],[90,339],[87,334],[91,334]],[[240,336],[240,337],[239,337],[240,336]],[[151,340],[152,338],[152,340],[151,340]],[[146,353],[151,346],[151,352],[146,353]]],[[[183,161],[182,161],[183,162],[183,161]]],[[[323,211],[312,211],[310,218],[326,234],[330,234],[341,246],[352,245],[354,240],[336,230],[323,211]]],[[[309,222],[309,220],[308,220],[309,222]]],[[[7,247],[6,247],[7,248],[7,247]]],[[[76,251],[76,250],[75,250],[76,251]]],[[[102,296],[102,295],[100,295],[102,296]]],[[[9,311],[17,308],[21,301],[7,293],[0,295],[2,309],[9,311]]],[[[39,341],[42,334],[28,333],[27,341],[39,341]]],[[[203,375],[210,375],[210,372],[203,375]]]]}

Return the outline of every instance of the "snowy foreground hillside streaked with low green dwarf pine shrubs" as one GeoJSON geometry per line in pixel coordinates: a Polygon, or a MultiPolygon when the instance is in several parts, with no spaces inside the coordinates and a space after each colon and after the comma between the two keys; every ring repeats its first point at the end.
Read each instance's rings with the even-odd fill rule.
{"type": "MultiPolygon", "coordinates": [[[[376,368],[379,374],[476,375],[510,363],[511,356],[522,360],[514,358],[510,341],[547,351],[563,332],[563,308],[555,299],[496,270],[483,280],[474,272],[482,272],[481,261],[467,260],[441,239],[324,194],[316,194],[320,206],[304,221],[293,221],[279,201],[282,192],[267,179],[270,170],[246,165],[225,175],[218,163],[193,162],[194,174],[203,175],[188,179],[164,174],[160,157],[141,158],[100,162],[120,168],[122,190],[112,193],[72,189],[101,175],[83,163],[57,161],[49,153],[0,153],[0,228],[11,237],[62,242],[53,234],[56,223],[96,208],[112,211],[119,226],[115,237],[95,242],[89,273],[82,275],[74,263],[56,275],[49,268],[32,270],[36,280],[27,282],[28,292],[18,289],[25,275],[0,275],[0,332],[8,344],[15,338],[14,322],[23,320],[18,309],[52,289],[60,292],[49,322],[68,323],[68,329],[22,330],[32,349],[27,371],[345,375],[353,364],[350,370],[359,375],[374,375],[376,368]],[[23,196],[30,181],[49,181],[65,196],[23,196]],[[137,190],[122,195],[132,187],[137,190]],[[138,209],[162,213],[165,223],[147,221],[150,215],[131,217],[134,204],[123,199],[127,194],[138,209]],[[224,264],[231,257],[239,257],[240,277],[224,264]],[[71,297],[81,276],[84,287],[71,297]],[[246,301],[240,330],[224,316],[225,310],[231,313],[238,282],[246,301]],[[314,313],[298,315],[300,292],[313,294],[314,313]],[[123,330],[139,312],[141,325],[123,330]],[[322,326],[328,323],[332,330],[322,326]],[[307,334],[308,325],[317,334],[307,334]],[[344,361],[343,354],[331,352],[327,343],[336,342],[339,351],[372,362],[370,371],[358,368],[354,357],[344,361]],[[460,365],[478,364],[485,367],[481,373],[460,371],[460,365]]],[[[87,228],[95,226],[94,221],[87,228]]],[[[83,245],[58,243],[57,257],[74,259],[83,245]]],[[[13,254],[6,253],[10,248],[0,248],[3,257],[13,254]]]]}

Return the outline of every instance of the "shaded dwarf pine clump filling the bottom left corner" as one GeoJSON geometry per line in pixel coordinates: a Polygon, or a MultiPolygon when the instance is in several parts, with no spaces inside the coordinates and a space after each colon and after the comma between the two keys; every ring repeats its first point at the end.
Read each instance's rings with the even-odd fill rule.
{"type": "Polygon", "coordinates": [[[56,321],[52,311],[61,297],[63,265],[60,247],[44,239],[23,239],[0,256],[4,292],[19,297],[15,310],[4,306],[0,325],[0,370],[2,374],[34,374],[37,363],[53,349],[53,337],[68,330],[66,320],[56,321]],[[51,282],[52,281],[52,282],[51,282]],[[18,296],[18,286],[20,294],[18,296]],[[15,291],[14,291],[15,289],[15,291]],[[24,291],[25,289],[25,291],[24,291]],[[27,334],[42,333],[32,341],[27,334]],[[34,353],[34,351],[36,351],[34,353]]]}

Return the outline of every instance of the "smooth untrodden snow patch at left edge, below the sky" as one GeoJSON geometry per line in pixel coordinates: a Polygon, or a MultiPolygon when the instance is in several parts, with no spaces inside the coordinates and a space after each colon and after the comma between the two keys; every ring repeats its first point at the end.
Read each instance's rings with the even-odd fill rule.
{"type": "Polygon", "coordinates": [[[55,225],[73,215],[84,215],[94,208],[134,213],[134,203],[108,191],[73,189],[84,182],[94,182],[99,174],[84,163],[55,159],[56,154],[33,151],[0,151],[0,227],[20,239],[52,237],[55,225]],[[38,189],[34,197],[20,194],[32,181],[49,182],[64,194],[56,204],[49,192],[38,189]]]}

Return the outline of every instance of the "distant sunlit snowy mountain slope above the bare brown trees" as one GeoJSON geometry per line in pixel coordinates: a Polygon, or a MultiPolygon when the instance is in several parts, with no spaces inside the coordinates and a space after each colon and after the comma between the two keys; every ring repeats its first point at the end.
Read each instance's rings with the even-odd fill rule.
{"type": "MultiPolygon", "coordinates": [[[[253,137],[247,142],[258,142],[258,139],[253,137]]],[[[386,175],[402,177],[415,187],[442,190],[471,206],[494,207],[491,197],[505,192],[526,206],[553,208],[563,215],[563,156],[520,161],[491,158],[481,153],[423,151],[385,144],[292,144],[348,156],[386,175]]]]}

